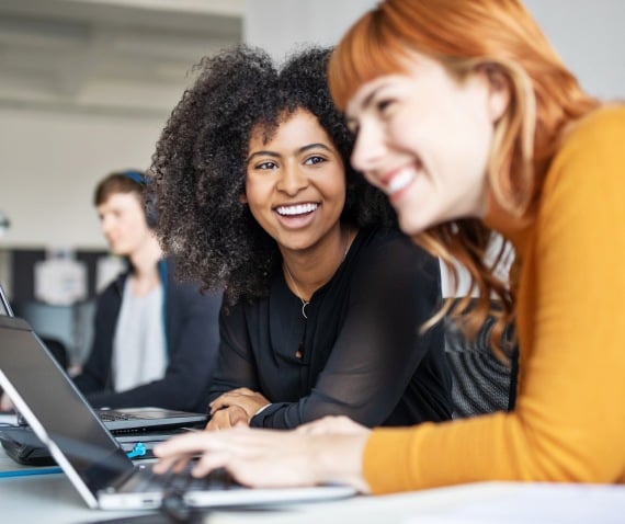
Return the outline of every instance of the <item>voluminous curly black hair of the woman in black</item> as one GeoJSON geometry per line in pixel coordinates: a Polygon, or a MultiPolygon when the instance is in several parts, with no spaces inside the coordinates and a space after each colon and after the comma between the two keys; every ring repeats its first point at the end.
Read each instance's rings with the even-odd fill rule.
{"type": "Polygon", "coordinates": [[[249,139],[260,126],[270,140],[300,109],[317,116],[345,166],[341,220],[396,224],[387,198],[350,167],[354,138],[328,90],[330,53],[307,47],[279,68],[265,52],[239,45],[195,66],[198,76],[171,113],[150,167],[156,232],[164,252],[178,257],[179,277],[226,289],[229,304],[266,295],[282,257],[241,202],[249,139]]]}

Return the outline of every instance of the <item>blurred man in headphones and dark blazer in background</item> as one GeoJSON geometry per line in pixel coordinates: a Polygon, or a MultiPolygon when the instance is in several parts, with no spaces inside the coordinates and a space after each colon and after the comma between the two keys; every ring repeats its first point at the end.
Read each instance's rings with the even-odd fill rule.
{"type": "Polygon", "coordinates": [[[148,185],[143,172],[128,170],[95,189],[102,232],[129,267],[98,296],[93,343],[75,383],[96,408],[204,412],[221,294],[174,278],[175,261],[163,258],[152,230],[148,185]]]}

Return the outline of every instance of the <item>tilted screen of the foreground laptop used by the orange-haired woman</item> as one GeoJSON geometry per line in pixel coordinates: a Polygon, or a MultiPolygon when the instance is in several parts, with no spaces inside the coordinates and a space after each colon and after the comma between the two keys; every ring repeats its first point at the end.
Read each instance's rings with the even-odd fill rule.
{"type": "Polygon", "coordinates": [[[18,397],[12,398],[18,409],[35,430],[42,426],[47,438],[41,430],[37,436],[58,447],[92,493],[133,468],[65,372],[19,318],[0,316],[0,385],[18,397]]]}

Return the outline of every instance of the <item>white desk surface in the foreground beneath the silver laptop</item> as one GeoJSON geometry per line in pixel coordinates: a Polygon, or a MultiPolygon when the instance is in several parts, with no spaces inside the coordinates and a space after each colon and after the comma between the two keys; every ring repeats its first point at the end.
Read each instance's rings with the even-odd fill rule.
{"type": "MultiPolygon", "coordinates": [[[[21,467],[0,448],[0,471],[21,467]]],[[[0,478],[2,522],[81,524],[146,512],[90,510],[64,474],[0,478]]],[[[215,511],[209,524],[622,524],[625,486],[477,483],[389,497],[215,511]]]]}

